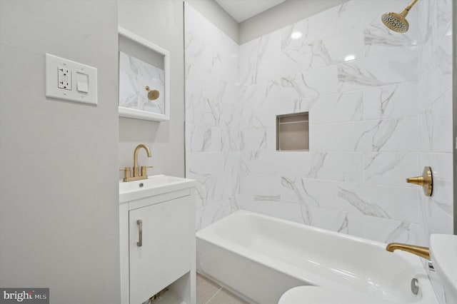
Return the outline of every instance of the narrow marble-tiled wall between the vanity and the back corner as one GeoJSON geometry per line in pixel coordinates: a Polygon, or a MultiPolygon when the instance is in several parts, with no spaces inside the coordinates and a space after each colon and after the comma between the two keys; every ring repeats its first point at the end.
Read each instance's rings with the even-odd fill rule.
{"type": "Polygon", "coordinates": [[[238,210],[239,46],[185,4],[186,177],[197,183],[196,229],[238,210]]]}

